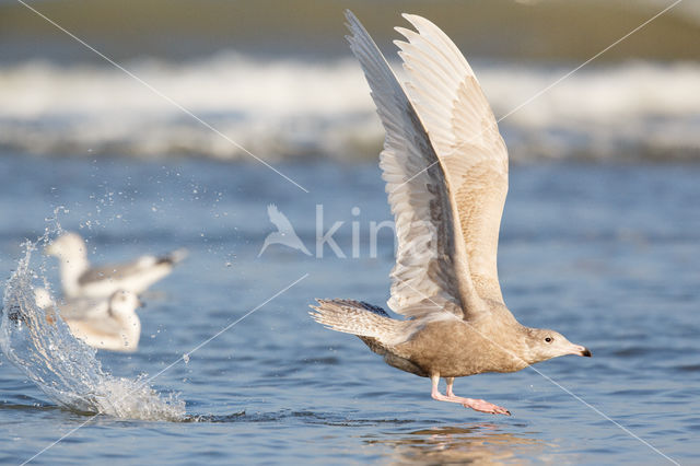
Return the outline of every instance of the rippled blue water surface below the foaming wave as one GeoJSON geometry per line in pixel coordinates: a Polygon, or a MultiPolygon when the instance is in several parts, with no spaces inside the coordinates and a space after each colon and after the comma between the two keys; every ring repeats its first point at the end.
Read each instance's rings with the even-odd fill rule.
{"type": "Polygon", "coordinates": [[[522,323],[556,328],[594,357],[456,381],[458,394],[511,418],[433,401],[428,380],[313,323],[314,298],[388,298],[388,229],[376,257],[370,251],[371,222],[389,219],[384,186],[374,164],[278,168],[311,193],[256,164],[0,158],[4,277],[57,207],[96,263],[190,252],[144,296],[139,351],[97,352],[105,371],[130,378],[179,360],[152,385],[179,393],[186,421],[59,408],[2,357],[0,462],[22,463],[69,433],[35,462],[661,464],[660,452],[700,462],[700,167],[512,167],[505,300],[522,323]],[[327,245],[323,257],[280,245],[258,257],[275,231],[268,203],[313,253],[317,223],[323,234],[343,222],[334,238],[347,258],[327,245]]]}

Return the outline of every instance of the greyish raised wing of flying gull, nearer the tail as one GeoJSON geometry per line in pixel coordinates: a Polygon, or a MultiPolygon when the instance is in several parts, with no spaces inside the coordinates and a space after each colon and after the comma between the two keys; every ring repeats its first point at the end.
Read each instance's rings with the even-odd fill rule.
{"type": "Polygon", "coordinates": [[[482,305],[471,283],[443,167],[384,56],[358,19],[350,11],[346,16],[350,47],[386,130],[380,166],[398,238],[388,305],[411,317],[442,311],[465,317],[478,312],[482,305]]]}

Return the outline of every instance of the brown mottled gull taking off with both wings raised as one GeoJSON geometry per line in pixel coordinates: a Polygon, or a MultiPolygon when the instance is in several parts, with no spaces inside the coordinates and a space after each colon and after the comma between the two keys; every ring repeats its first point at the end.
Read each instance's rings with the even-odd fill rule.
{"type": "Polygon", "coordinates": [[[456,396],[454,377],[591,351],[521,325],[503,302],[497,249],[508,152],[493,113],[464,56],[430,21],[404,14],[417,31],[397,27],[408,40],[396,42],[408,79],[401,86],[362,24],[346,15],[386,130],[380,166],[398,237],[388,305],[406,319],[351,300],[318,300],[312,316],[359,336],[388,364],[430,377],[436,400],[510,415],[456,396]]]}

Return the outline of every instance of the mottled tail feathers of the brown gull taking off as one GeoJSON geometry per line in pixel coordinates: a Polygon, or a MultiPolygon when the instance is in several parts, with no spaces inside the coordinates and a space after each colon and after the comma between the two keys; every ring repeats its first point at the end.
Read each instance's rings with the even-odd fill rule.
{"type": "Polygon", "coordinates": [[[316,300],[315,312],[308,314],[326,328],[358,337],[373,338],[393,346],[408,337],[406,321],[396,321],[378,306],[354,300],[316,300]]]}

